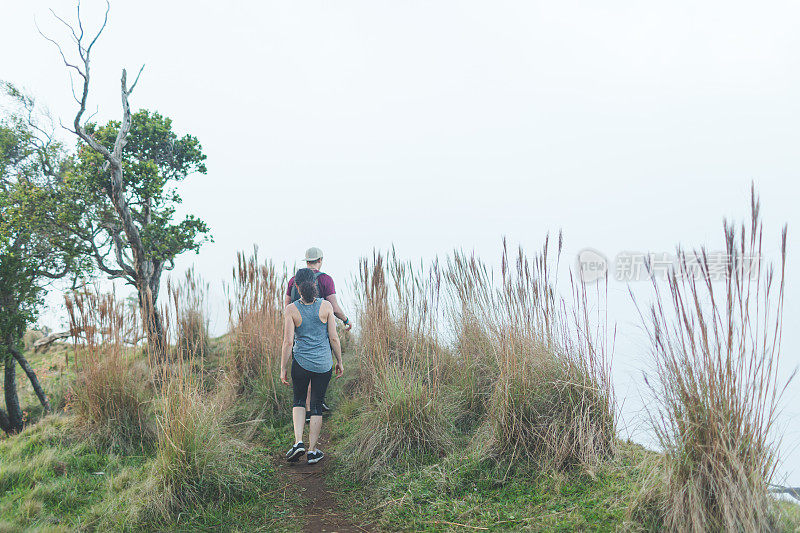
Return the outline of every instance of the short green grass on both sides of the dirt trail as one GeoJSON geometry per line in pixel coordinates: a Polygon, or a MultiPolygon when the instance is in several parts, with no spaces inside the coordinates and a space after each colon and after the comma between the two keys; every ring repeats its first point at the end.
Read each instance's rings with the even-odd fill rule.
{"type": "MultiPolygon", "coordinates": [[[[43,371],[48,391],[69,379],[69,372],[60,372],[63,351],[28,357],[43,371]]],[[[218,357],[213,353],[209,359],[218,357]]],[[[355,368],[352,360],[346,365],[355,368]]],[[[359,417],[362,399],[347,395],[352,387],[346,381],[332,380],[329,389],[335,412],[325,423],[334,445],[365,423],[359,417]]],[[[263,399],[256,396],[240,399],[238,407],[257,411],[263,399]],[[248,402],[253,405],[245,405],[248,402]]],[[[32,391],[23,391],[21,398],[28,412],[37,412],[32,391]]],[[[158,495],[151,452],[135,454],[104,444],[76,428],[69,413],[45,417],[20,435],[0,439],[0,533],[298,531],[303,524],[296,517],[302,516],[307,502],[286,488],[287,480],[275,467],[292,438],[288,416],[252,427],[248,433],[258,459],[253,463],[258,490],[192,504],[164,519],[147,513],[148,499],[158,495]]],[[[342,515],[378,530],[657,530],[656,524],[626,521],[645,465],[655,456],[641,446],[620,443],[614,459],[591,471],[565,474],[509,469],[502,461],[485,458],[481,443],[480,429],[465,427],[444,456],[403,453],[366,485],[348,465],[334,462],[326,481],[340,497],[342,515]]],[[[800,506],[780,502],[778,508],[781,530],[800,531],[800,506]]]]}

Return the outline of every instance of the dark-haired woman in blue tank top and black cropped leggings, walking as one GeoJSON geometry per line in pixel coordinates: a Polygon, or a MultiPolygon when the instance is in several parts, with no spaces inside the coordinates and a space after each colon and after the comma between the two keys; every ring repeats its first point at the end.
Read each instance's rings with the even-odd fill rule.
{"type": "Polygon", "coordinates": [[[330,302],[317,298],[314,271],[301,268],[294,276],[300,299],[284,310],[283,350],[281,353],[281,382],[289,384],[289,355],[292,355],[292,389],[294,390],[295,445],[286,452],[286,459],[295,462],[308,452],[308,462],[318,463],[324,457],[317,448],[322,428],[322,400],[328,388],[334,365],[331,349],[336,357],[336,377],[344,373],[342,345],[336,333],[336,321],[330,302]],[[293,348],[294,347],[294,348],[293,348]],[[308,430],[308,448],[303,443],[306,421],[306,392],[311,385],[311,422],[308,430]]]}

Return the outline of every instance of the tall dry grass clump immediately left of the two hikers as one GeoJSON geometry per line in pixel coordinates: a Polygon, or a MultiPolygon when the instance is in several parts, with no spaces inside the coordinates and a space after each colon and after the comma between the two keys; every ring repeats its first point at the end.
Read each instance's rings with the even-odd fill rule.
{"type": "Polygon", "coordinates": [[[240,393],[256,391],[272,410],[286,408],[280,384],[283,344],[283,290],[287,275],[271,262],[261,263],[258,249],[236,255],[228,287],[230,336],[227,371],[240,393]]]}

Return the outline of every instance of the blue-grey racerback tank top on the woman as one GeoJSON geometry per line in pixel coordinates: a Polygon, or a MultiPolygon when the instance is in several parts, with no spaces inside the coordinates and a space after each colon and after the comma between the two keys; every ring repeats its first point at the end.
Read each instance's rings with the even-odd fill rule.
{"type": "Polygon", "coordinates": [[[314,303],[308,305],[297,300],[294,305],[303,319],[294,330],[294,359],[309,372],[325,373],[333,367],[333,359],[328,324],[319,319],[322,300],[315,298],[314,303]]]}

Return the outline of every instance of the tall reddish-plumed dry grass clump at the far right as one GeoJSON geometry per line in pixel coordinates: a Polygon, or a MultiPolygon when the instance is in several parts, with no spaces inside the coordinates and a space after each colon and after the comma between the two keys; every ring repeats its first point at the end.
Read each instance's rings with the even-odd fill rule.
{"type": "Polygon", "coordinates": [[[724,224],[723,263],[705,248],[678,250],[668,290],[653,278],[655,303],[643,316],[656,364],[649,380],[659,406],[653,423],[665,455],[637,512],[655,511],[670,530],[773,526],[771,437],[791,380],[778,364],[786,228],[776,270],[762,256],[755,191],[750,207],[749,224],[724,224]]]}

